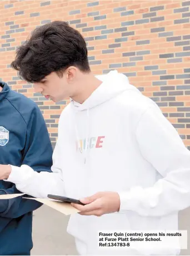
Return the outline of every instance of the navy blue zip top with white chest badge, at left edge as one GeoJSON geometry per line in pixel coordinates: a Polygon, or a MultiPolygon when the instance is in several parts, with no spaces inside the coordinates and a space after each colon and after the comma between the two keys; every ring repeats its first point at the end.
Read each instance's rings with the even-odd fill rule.
{"type": "MultiPolygon", "coordinates": [[[[0,82],[0,164],[26,164],[35,171],[51,171],[52,145],[38,106],[0,82]]],[[[0,194],[20,193],[0,180],[0,194]]],[[[29,255],[32,249],[32,211],[35,200],[0,200],[0,255],[29,255]]]]}

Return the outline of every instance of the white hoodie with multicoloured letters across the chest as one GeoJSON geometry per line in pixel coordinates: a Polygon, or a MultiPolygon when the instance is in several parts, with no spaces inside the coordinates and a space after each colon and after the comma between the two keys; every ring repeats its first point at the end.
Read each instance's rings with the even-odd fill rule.
{"type": "Polygon", "coordinates": [[[178,211],[190,205],[190,152],[159,107],[126,76],[112,71],[97,77],[101,86],[61,114],[53,173],[12,166],[7,181],[37,198],[57,194],[79,199],[118,191],[119,213],[71,216],[68,233],[79,254],[179,254],[175,249],[98,248],[102,230],[178,229],[178,211]]]}

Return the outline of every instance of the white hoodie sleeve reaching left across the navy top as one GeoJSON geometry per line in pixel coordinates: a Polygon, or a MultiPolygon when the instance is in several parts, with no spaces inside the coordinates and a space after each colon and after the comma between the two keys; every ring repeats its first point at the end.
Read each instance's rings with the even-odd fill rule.
{"type": "MultiPolygon", "coordinates": [[[[44,147],[46,150],[46,147],[44,147]]],[[[47,198],[48,194],[64,195],[63,175],[59,158],[59,141],[53,152],[52,173],[47,171],[37,172],[28,165],[21,167],[12,166],[11,174],[7,181],[16,184],[22,193],[34,196],[35,198],[47,198]]]]}

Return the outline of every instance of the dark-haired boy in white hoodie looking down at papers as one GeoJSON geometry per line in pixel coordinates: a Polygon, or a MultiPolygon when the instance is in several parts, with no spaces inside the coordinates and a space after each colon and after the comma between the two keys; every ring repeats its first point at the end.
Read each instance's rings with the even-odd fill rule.
{"type": "MultiPolygon", "coordinates": [[[[82,255],[145,253],[98,247],[104,230],[178,229],[178,211],[190,205],[190,152],[151,99],[117,71],[94,76],[84,38],[62,21],[37,28],[12,67],[47,99],[71,103],[59,119],[53,173],[0,166],[1,179],[38,198],[57,194],[87,204],[74,205],[81,213],[68,224],[82,255]]],[[[179,250],[146,251],[166,253],[179,250]]]]}

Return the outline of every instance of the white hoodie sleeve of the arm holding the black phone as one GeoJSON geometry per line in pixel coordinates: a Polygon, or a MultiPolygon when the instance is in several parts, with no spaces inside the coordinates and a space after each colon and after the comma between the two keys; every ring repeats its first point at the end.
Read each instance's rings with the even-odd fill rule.
{"type": "Polygon", "coordinates": [[[119,193],[120,211],[162,216],[187,208],[190,205],[190,152],[157,106],[144,112],[136,137],[142,156],[162,179],[149,188],[133,187],[119,193]]]}

